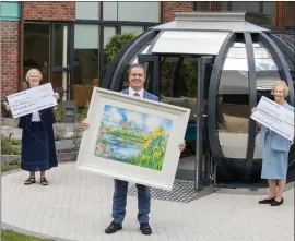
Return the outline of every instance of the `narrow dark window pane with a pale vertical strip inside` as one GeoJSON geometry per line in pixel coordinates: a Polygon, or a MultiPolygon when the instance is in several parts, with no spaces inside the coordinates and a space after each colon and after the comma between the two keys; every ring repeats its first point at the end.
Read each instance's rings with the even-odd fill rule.
{"type": "Polygon", "coordinates": [[[69,25],[55,24],[55,67],[69,67],[69,25]]]}

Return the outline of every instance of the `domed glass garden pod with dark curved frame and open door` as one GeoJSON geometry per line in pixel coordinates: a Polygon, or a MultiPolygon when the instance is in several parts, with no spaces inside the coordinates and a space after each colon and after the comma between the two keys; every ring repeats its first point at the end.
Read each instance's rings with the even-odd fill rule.
{"type": "MultiPolygon", "coordinates": [[[[294,36],[248,22],[253,14],[176,12],[126,45],[109,65],[102,87],[128,86],[127,70],[148,68],[145,88],[163,103],[191,109],[177,178],[212,183],[258,182],[260,130],[249,117],[262,96],[283,80],[294,106],[294,36]]],[[[290,173],[295,170],[295,147],[290,173]]],[[[291,174],[292,177],[292,174],[291,174]]],[[[290,180],[290,179],[288,179],[290,180]]]]}

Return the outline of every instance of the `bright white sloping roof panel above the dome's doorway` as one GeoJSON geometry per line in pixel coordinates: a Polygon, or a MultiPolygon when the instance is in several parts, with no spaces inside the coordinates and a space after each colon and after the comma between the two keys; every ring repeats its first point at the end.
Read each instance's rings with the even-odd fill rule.
{"type": "Polygon", "coordinates": [[[153,52],[217,55],[228,33],[165,31],[153,52]]]}

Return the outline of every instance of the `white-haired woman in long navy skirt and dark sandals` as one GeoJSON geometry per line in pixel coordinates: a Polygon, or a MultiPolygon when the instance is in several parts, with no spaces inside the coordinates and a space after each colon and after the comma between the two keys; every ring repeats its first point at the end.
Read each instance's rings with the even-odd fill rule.
{"type": "MultiPolygon", "coordinates": [[[[31,88],[39,86],[42,73],[31,69],[26,73],[26,81],[31,88]]],[[[54,96],[59,99],[59,94],[54,96]]],[[[5,105],[10,110],[10,106],[5,105]]],[[[52,108],[43,109],[20,118],[19,128],[23,129],[21,168],[30,171],[24,182],[30,185],[36,182],[35,172],[40,171],[40,184],[48,185],[45,171],[57,167],[57,155],[52,124],[56,122],[52,108]]]]}

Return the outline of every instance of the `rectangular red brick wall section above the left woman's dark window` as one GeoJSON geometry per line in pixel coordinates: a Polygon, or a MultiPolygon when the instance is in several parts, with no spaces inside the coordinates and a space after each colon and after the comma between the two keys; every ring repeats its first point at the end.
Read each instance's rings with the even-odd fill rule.
{"type": "Polygon", "coordinates": [[[74,21],[75,2],[24,2],[24,20],[74,21]]]}

